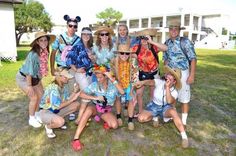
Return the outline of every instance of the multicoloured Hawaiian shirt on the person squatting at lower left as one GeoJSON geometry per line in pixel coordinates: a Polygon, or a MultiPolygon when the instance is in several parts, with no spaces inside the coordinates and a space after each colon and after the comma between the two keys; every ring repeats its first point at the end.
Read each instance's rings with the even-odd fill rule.
{"type": "Polygon", "coordinates": [[[44,91],[43,97],[40,101],[39,107],[42,109],[56,110],[60,107],[61,103],[69,99],[69,86],[65,84],[63,89],[52,83],[44,91]]]}

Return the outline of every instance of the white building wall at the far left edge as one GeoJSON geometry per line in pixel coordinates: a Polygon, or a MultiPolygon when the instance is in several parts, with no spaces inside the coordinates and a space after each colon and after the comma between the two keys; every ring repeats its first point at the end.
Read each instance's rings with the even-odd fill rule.
{"type": "Polygon", "coordinates": [[[15,61],[17,56],[14,10],[11,3],[0,3],[0,57],[15,61]]]}

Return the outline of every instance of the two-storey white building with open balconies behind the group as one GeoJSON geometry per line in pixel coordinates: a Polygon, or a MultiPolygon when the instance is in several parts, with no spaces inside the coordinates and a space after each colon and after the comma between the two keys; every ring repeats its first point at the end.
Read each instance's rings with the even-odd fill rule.
{"type": "Polygon", "coordinates": [[[223,14],[171,13],[150,17],[122,19],[119,23],[128,26],[134,33],[145,28],[157,28],[156,40],[164,43],[168,39],[168,22],[178,19],[185,27],[180,36],[188,37],[197,48],[231,49],[234,42],[229,41],[229,16],[223,14]]]}

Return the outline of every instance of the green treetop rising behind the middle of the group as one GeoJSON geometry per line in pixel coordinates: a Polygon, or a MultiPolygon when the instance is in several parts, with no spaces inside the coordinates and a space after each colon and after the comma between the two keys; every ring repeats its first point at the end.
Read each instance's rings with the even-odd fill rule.
{"type": "Polygon", "coordinates": [[[100,19],[98,24],[115,26],[116,23],[120,21],[123,14],[119,11],[114,10],[113,8],[107,8],[104,11],[96,14],[96,17],[100,19]]]}

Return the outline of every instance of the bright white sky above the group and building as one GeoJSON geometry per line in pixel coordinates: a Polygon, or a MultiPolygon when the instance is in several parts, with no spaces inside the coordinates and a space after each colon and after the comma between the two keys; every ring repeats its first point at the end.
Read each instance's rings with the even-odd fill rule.
{"type": "Polygon", "coordinates": [[[80,16],[79,30],[96,23],[96,14],[112,7],[123,19],[169,13],[193,12],[230,15],[231,32],[236,32],[236,0],[37,0],[42,3],[56,25],[65,24],[63,16],[80,16]]]}

